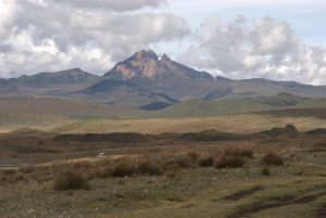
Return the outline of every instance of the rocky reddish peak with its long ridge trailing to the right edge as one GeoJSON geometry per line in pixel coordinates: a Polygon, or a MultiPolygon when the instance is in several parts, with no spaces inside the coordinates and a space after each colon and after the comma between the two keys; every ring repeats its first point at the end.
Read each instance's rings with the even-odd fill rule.
{"type": "Polygon", "coordinates": [[[272,97],[280,92],[309,98],[326,97],[326,87],[293,81],[272,81],[260,78],[233,80],[221,76],[213,78],[205,72],[187,67],[171,60],[166,54],[159,56],[151,50],[139,51],[117,63],[103,77],[130,81],[179,101],[272,97]]]}

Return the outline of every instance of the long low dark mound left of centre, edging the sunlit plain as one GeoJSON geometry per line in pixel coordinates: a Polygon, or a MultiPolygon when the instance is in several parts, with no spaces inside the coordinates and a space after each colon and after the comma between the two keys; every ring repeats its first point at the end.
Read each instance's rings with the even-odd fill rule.
{"type": "Polygon", "coordinates": [[[78,142],[112,142],[112,143],[146,143],[150,137],[141,133],[87,133],[87,134],[59,134],[53,141],[78,141],[78,142]]]}

